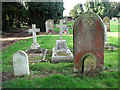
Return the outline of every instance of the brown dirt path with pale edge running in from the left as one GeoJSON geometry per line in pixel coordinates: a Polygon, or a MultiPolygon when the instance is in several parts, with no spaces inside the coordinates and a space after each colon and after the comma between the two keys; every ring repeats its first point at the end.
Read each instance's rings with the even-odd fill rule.
{"type": "MultiPolygon", "coordinates": [[[[37,35],[38,36],[46,36],[46,35],[37,35]]],[[[32,38],[33,36],[28,37],[6,37],[6,38],[0,38],[0,51],[8,48],[9,46],[13,45],[14,43],[18,42],[22,39],[28,39],[32,38]]]]}

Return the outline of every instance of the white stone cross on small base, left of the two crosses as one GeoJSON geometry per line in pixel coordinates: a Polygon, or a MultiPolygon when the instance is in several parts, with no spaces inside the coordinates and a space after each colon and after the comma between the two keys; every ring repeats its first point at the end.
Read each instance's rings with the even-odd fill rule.
{"type": "Polygon", "coordinates": [[[31,49],[38,49],[40,45],[37,43],[36,32],[40,32],[40,29],[36,29],[36,25],[32,24],[32,29],[29,29],[28,32],[32,32],[33,34],[33,44],[30,47],[31,49]]]}

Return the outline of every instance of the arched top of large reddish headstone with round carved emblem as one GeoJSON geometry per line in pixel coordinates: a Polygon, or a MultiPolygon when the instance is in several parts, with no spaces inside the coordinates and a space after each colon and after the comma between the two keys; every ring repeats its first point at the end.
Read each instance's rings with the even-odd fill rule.
{"type": "MultiPolygon", "coordinates": [[[[80,23],[82,26],[81,28],[84,28],[84,30],[92,30],[96,27],[97,24],[101,25],[100,27],[104,27],[101,17],[91,11],[87,11],[78,17],[74,24],[74,29],[78,27],[80,23]]],[[[100,30],[103,30],[104,32],[104,28],[100,30]]]]}

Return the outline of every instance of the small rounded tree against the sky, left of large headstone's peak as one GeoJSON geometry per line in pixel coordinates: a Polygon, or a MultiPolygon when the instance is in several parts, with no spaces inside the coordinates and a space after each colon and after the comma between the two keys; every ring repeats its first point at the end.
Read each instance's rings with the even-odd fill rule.
{"type": "Polygon", "coordinates": [[[82,4],[77,4],[70,11],[70,15],[74,18],[78,17],[80,14],[84,12],[82,4]]]}

